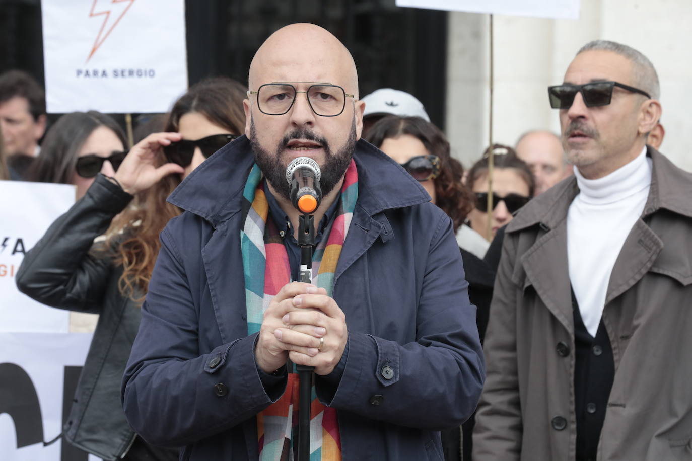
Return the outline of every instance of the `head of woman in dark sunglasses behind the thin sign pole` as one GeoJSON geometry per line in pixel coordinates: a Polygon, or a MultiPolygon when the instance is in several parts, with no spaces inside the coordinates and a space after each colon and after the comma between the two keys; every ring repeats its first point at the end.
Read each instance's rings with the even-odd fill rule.
{"type": "Polygon", "coordinates": [[[493,144],[468,171],[466,185],[475,195],[475,209],[468,214],[471,228],[492,241],[495,232],[534,196],[534,175],[511,147],[493,144]],[[488,163],[493,156],[491,228],[488,229],[488,163]]]}

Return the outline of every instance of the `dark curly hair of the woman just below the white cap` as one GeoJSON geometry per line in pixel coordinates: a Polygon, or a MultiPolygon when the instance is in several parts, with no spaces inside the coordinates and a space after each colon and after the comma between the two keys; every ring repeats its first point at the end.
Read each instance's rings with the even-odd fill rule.
{"type": "Polygon", "coordinates": [[[376,147],[381,147],[385,139],[399,138],[401,135],[417,138],[430,154],[439,158],[440,173],[433,180],[435,205],[452,218],[456,232],[464,223],[466,215],[473,209],[474,201],[471,189],[462,183],[464,167],[452,158],[447,137],[437,126],[421,117],[388,115],[372,125],[363,139],[376,147]]]}

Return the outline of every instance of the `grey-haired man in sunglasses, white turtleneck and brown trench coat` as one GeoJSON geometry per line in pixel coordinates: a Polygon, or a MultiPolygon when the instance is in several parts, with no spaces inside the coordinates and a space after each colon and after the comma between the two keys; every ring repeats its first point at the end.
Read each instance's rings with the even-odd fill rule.
{"type": "Polygon", "coordinates": [[[575,177],[507,226],[473,459],[689,459],[692,175],[646,146],[656,71],[592,41],[548,93],[575,177]]]}

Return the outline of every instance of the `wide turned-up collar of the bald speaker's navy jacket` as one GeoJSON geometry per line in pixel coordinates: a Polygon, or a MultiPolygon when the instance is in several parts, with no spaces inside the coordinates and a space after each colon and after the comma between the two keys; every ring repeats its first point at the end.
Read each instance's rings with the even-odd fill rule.
{"type": "MultiPolygon", "coordinates": [[[[354,159],[358,168],[358,206],[370,216],[430,201],[417,180],[372,144],[358,140],[354,159]]],[[[217,227],[240,211],[243,188],[254,163],[250,142],[243,135],[194,169],[168,202],[217,227]]]]}

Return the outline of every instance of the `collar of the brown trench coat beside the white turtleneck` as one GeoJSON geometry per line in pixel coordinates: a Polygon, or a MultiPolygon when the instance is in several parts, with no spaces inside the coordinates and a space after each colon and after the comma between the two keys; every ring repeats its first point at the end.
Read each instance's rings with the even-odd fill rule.
{"type": "MultiPolygon", "coordinates": [[[[668,158],[647,146],[646,155],[651,158],[651,187],[644,207],[644,216],[659,209],[692,218],[692,202],[689,191],[692,187],[692,173],[676,167],[668,158]]],[[[507,233],[541,225],[554,229],[567,217],[574,197],[579,194],[574,176],[567,178],[549,191],[533,198],[507,225],[507,233]]]]}

